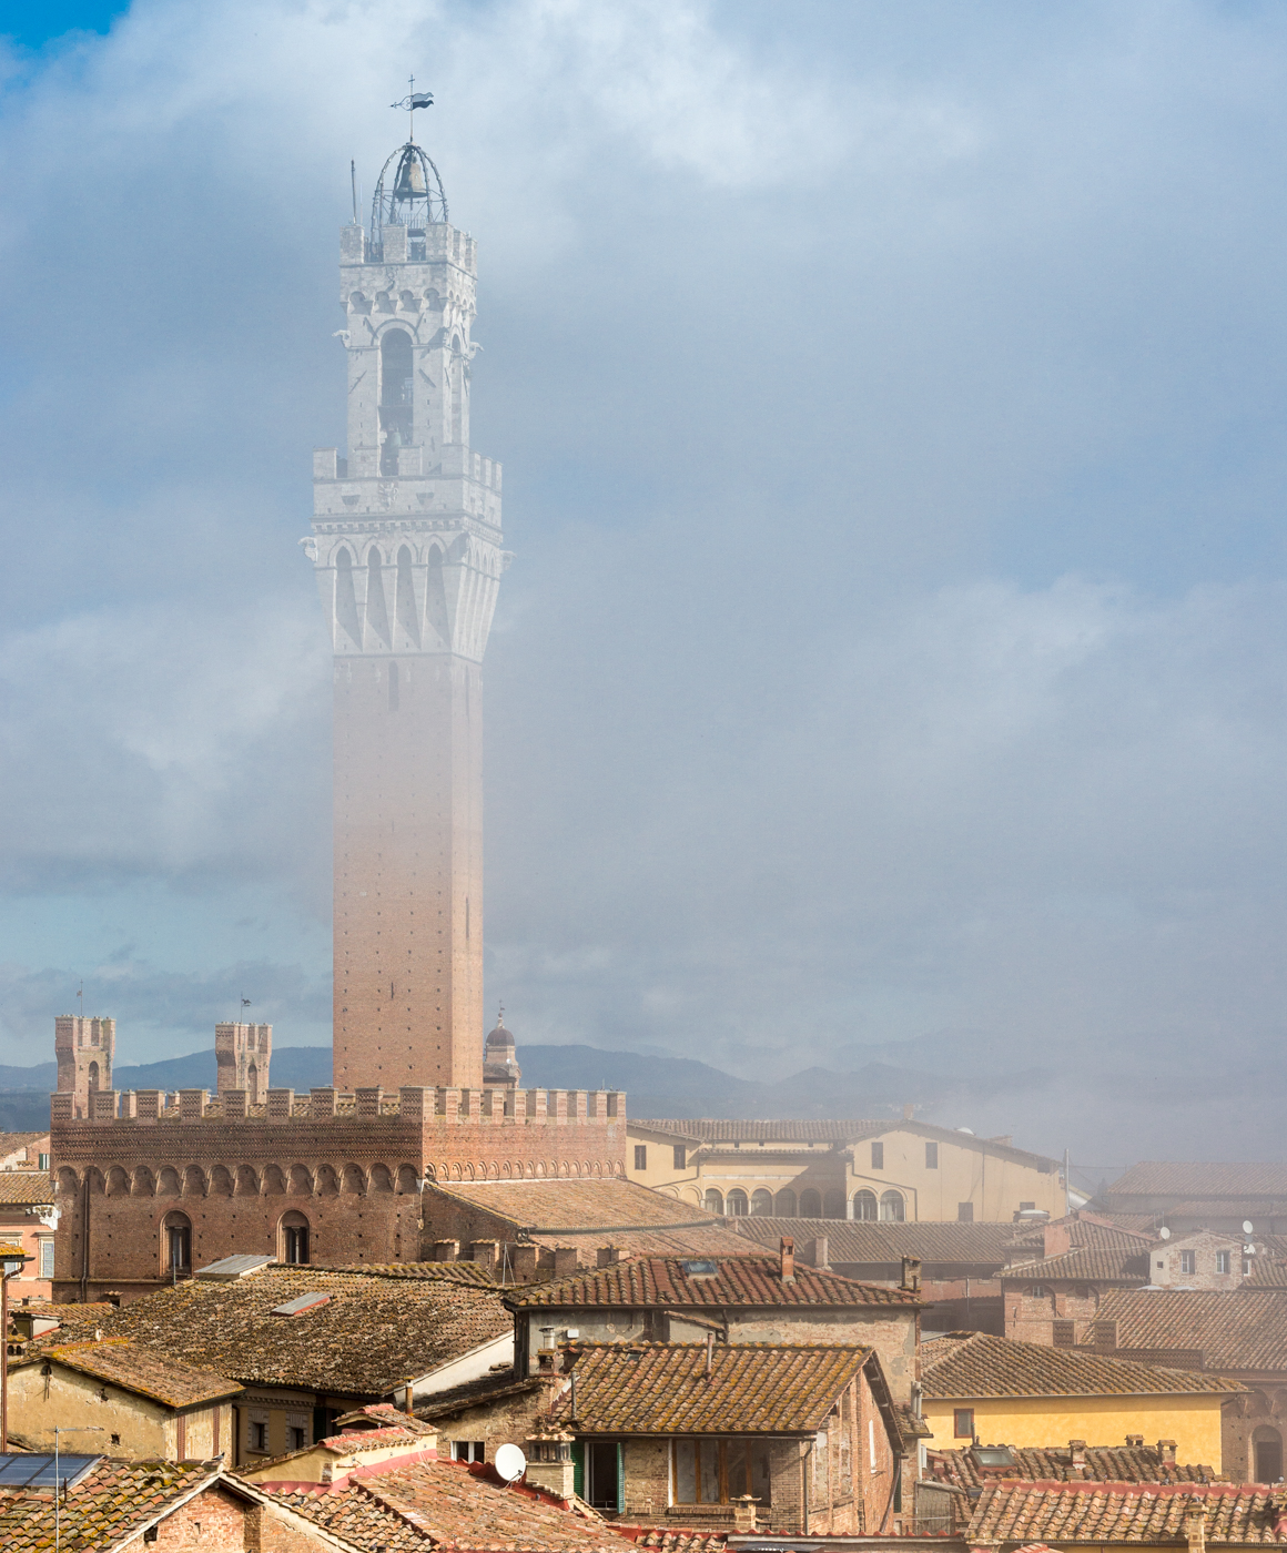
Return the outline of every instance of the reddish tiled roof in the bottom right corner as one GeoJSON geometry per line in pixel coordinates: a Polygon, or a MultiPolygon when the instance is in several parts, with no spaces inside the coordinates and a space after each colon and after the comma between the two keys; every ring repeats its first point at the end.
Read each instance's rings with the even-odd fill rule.
{"type": "Polygon", "coordinates": [[[1203,1516],[1206,1544],[1281,1544],[1268,1488],[1236,1483],[995,1483],[970,1517],[969,1542],[1178,1542],[1203,1516]]]}

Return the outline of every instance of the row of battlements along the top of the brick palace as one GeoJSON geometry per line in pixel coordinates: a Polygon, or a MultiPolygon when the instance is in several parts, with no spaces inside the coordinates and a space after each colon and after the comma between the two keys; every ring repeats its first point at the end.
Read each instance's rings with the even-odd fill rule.
{"type": "MultiPolygon", "coordinates": [[[[595,1126],[626,1120],[621,1090],[587,1089],[415,1089],[396,1093],[383,1089],[314,1089],[297,1098],[293,1089],[270,1089],[267,1104],[250,1104],[244,1089],[227,1089],[211,1098],[206,1089],[102,1089],[90,1096],[88,1123],[172,1121],[317,1121],[323,1117],[383,1117],[428,1123],[492,1123],[509,1126],[595,1126]]],[[[54,1127],[73,1123],[76,1096],[50,1096],[54,1127]]]]}

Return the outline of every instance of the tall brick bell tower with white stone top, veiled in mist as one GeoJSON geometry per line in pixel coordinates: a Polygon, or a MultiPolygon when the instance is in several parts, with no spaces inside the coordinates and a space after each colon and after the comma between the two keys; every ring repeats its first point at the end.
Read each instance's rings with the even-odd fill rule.
{"type": "MultiPolygon", "coordinates": [[[[424,106],[415,99],[413,106],[424,106]]],[[[340,230],[348,457],[314,452],[334,651],[338,1089],[483,1082],[483,651],[508,564],[469,446],[477,244],[413,138],[340,230]]]]}

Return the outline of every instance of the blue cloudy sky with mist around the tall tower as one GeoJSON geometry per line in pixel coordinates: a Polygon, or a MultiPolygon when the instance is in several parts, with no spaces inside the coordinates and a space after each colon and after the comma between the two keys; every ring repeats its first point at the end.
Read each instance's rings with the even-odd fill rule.
{"type": "Polygon", "coordinates": [[[329,1041],[337,235],[418,124],[505,464],[520,1042],[899,1056],[1082,1160],[1273,1157],[1287,12],[0,9],[0,1062],[329,1041]]]}

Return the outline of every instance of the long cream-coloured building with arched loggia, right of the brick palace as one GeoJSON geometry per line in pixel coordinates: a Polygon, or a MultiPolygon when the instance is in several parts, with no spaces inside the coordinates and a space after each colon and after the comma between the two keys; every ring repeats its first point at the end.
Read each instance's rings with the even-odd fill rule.
{"type": "Polygon", "coordinates": [[[998,1222],[1068,1211],[1060,1160],[910,1117],[632,1120],[626,1132],[632,1180],[730,1218],[998,1222]]]}

